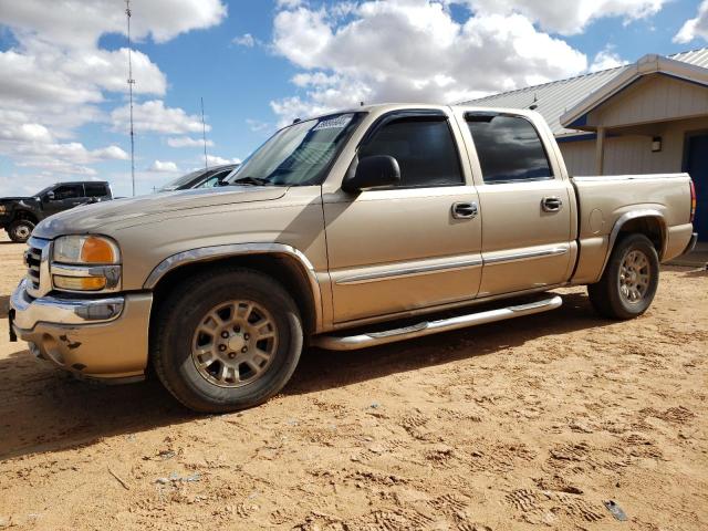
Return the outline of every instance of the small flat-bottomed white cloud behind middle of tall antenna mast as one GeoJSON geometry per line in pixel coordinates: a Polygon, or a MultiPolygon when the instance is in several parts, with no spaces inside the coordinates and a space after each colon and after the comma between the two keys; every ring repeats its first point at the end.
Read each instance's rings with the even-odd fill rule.
{"type": "MultiPolygon", "coordinates": [[[[128,131],[131,107],[124,105],[111,113],[115,131],[128,131]]],[[[162,100],[150,100],[133,106],[133,124],[137,133],[159,133],[179,135],[186,133],[201,133],[201,117],[187,114],[179,107],[166,107],[162,100]]],[[[207,124],[207,131],[210,126],[207,124]]]]}

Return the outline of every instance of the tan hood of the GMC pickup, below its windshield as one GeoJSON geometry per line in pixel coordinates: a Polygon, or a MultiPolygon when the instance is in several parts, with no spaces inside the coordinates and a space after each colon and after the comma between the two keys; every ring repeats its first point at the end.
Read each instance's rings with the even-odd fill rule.
{"type": "Polygon", "coordinates": [[[128,199],[85,205],[46,218],[39,223],[33,235],[39,238],[55,238],[60,235],[86,233],[108,225],[137,221],[147,216],[159,216],[179,210],[269,201],[285,195],[287,187],[228,186],[153,194],[128,199]]]}

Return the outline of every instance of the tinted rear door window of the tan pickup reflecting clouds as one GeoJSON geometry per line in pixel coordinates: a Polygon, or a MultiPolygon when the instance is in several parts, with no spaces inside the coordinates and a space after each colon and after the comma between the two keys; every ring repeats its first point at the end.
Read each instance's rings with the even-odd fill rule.
{"type": "Polygon", "coordinates": [[[466,119],[485,183],[553,178],[545,148],[531,122],[502,114],[468,114],[466,119]]]}

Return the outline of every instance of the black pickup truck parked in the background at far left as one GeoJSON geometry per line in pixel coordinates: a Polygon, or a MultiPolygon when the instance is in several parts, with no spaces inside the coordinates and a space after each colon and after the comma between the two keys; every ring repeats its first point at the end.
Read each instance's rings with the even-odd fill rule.
{"type": "Polygon", "coordinates": [[[15,243],[24,243],[42,219],[79,205],[112,198],[108,183],[95,180],[56,183],[31,197],[0,197],[0,229],[15,243]]]}

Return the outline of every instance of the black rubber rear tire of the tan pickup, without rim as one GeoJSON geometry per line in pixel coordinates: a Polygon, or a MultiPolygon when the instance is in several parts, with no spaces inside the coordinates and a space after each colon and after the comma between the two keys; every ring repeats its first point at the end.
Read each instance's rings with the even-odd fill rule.
{"type": "Polygon", "coordinates": [[[590,302],[597,313],[604,317],[627,320],[642,315],[647,311],[659,282],[659,259],[652,241],[644,235],[628,235],[620,239],[600,282],[587,287],[590,302]],[[621,290],[621,273],[625,258],[638,251],[647,259],[648,283],[641,299],[631,302],[621,290]]]}

